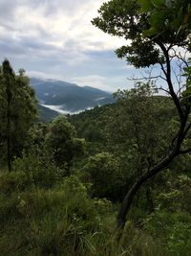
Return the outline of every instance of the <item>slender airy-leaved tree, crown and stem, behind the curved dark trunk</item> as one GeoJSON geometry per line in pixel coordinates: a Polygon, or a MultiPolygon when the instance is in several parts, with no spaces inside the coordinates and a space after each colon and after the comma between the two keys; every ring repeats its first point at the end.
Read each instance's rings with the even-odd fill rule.
{"type": "MultiPolygon", "coordinates": [[[[108,150],[120,158],[127,190],[145,168],[152,166],[168,150],[177,116],[174,116],[171,99],[157,95],[150,82],[138,82],[135,88],[119,90],[116,96],[116,106],[105,113],[103,134],[108,150]],[[167,129],[170,135],[166,133],[167,129]]],[[[153,190],[159,183],[159,179],[147,182],[146,188],[142,189],[145,193],[137,196],[137,202],[138,198],[146,196],[149,212],[153,210],[149,187],[153,190]]]]}

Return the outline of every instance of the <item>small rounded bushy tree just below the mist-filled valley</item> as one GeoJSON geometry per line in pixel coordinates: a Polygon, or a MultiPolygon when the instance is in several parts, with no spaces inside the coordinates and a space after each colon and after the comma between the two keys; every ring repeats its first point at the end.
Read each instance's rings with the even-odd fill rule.
{"type": "Polygon", "coordinates": [[[85,141],[75,136],[74,127],[60,115],[53,120],[45,138],[45,147],[53,155],[54,163],[64,167],[67,175],[70,174],[74,156],[84,152],[85,141]]]}

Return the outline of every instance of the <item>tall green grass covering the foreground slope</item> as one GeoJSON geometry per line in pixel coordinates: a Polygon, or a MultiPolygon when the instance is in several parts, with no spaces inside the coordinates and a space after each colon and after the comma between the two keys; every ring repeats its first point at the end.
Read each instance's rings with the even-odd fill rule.
{"type": "Polygon", "coordinates": [[[0,254],[168,255],[161,254],[159,244],[131,221],[118,243],[115,207],[106,199],[89,198],[76,176],[62,179],[54,187],[40,183],[31,187],[29,183],[25,189],[11,186],[8,180],[13,176],[17,184],[26,182],[18,170],[1,175],[0,254]]]}

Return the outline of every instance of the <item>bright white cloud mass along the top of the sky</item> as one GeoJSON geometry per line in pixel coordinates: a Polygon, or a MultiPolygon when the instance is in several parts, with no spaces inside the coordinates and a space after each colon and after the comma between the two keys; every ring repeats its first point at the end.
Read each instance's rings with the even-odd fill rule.
{"type": "MultiPolygon", "coordinates": [[[[3,8],[7,10],[3,1],[3,8]]],[[[26,36],[44,38],[44,43],[64,46],[67,41],[74,40],[78,50],[84,49],[115,49],[120,45],[117,37],[106,35],[91,24],[97,9],[103,0],[83,1],[39,1],[32,5],[31,1],[16,1],[10,4],[10,18],[1,19],[2,34],[9,24],[11,31],[6,34],[11,38],[21,39],[26,36]],[[54,3],[53,3],[54,2],[54,3]],[[53,10],[52,10],[53,9],[53,10]]],[[[2,11],[3,12],[3,11],[2,11]]]]}

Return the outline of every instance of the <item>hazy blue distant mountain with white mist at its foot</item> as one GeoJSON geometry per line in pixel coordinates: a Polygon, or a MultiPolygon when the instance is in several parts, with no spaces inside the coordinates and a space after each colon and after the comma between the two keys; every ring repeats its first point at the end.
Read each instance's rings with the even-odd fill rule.
{"type": "Polygon", "coordinates": [[[66,112],[73,113],[96,105],[115,102],[113,95],[109,92],[90,86],[80,87],[66,81],[44,81],[32,78],[31,85],[36,92],[40,105],[66,112]]]}

